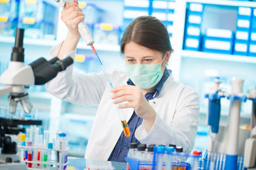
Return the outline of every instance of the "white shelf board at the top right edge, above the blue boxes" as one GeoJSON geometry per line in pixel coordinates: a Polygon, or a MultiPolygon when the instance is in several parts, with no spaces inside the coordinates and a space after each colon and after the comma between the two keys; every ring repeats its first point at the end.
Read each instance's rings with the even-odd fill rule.
{"type": "Polygon", "coordinates": [[[187,0],[191,3],[222,5],[222,6],[245,6],[256,8],[256,2],[253,1],[228,1],[228,0],[187,0]]]}

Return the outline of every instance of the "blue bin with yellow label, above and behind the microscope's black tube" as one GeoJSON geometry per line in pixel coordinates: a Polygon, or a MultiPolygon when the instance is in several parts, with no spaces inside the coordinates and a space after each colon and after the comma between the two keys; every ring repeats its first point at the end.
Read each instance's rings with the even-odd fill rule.
{"type": "Polygon", "coordinates": [[[55,39],[58,7],[43,0],[21,0],[18,27],[25,29],[26,38],[55,39]]]}

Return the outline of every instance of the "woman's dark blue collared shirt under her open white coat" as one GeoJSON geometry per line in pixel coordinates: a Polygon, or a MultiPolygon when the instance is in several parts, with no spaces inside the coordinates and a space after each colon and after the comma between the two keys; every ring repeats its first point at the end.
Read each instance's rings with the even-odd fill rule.
{"type": "MultiPolygon", "coordinates": [[[[156,88],[153,91],[145,94],[145,98],[147,101],[159,96],[161,89],[164,86],[164,82],[170,76],[170,74],[170,69],[164,70],[164,75],[159,81],[159,83],[156,85],[156,88]]],[[[132,82],[131,79],[128,79],[127,84],[134,86],[134,83],[132,82]]],[[[124,136],[124,132],[121,133],[117,141],[117,144],[115,145],[114,149],[112,150],[112,153],[110,154],[109,159],[107,159],[108,161],[125,162],[124,158],[127,157],[129,144],[132,142],[137,142],[138,145],[140,144],[140,142],[135,137],[135,130],[139,127],[139,125],[142,124],[142,120],[143,119],[139,118],[139,116],[135,112],[132,114],[132,117],[129,119],[128,122],[128,127],[131,133],[130,136],[126,137],[124,136]]]]}

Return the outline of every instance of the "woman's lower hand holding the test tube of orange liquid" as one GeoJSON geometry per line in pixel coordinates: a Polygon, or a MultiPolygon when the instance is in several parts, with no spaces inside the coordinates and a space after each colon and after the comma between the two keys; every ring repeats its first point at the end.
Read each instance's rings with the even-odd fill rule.
{"type": "MultiPolygon", "coordinates": [[[[112,99],[114,104],[122,103],[119,108],[134,108],[135,113],[139,118],[153,122],[156,118],[156,112],[146,101],[142,90],[138,86],[124,85],[117,86],[111,91],[114,95],[112,99]]],[[[151,129],[151,128],[150,128],[151,129]]]]}

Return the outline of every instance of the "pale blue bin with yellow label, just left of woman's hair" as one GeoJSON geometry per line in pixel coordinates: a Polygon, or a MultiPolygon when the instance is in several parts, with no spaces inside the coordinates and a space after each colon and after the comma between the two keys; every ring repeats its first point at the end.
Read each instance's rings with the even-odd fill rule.
{"type": "Polygon", "coordinates": [[[120,27],[109,23],[96,23],[93,28],[95,42],[107,45],[119,45],[120,27]]]}

